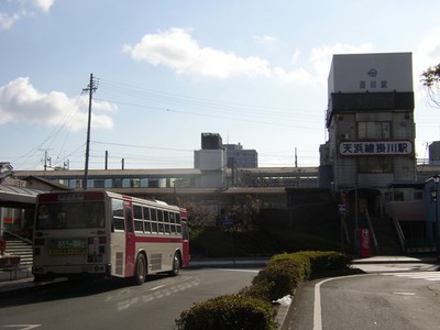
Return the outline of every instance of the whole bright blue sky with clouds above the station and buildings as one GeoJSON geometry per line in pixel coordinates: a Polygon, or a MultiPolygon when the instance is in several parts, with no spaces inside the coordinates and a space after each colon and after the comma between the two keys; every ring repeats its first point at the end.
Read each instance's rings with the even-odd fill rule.
{"type": "Polygon", "coordinates": [[[193,168],[201,133],[260,167],[319,165],[334,54],[413,53],[416,152],[440,140],[420,74],[438,0],[0,0],[0,162],[193,168]]]}

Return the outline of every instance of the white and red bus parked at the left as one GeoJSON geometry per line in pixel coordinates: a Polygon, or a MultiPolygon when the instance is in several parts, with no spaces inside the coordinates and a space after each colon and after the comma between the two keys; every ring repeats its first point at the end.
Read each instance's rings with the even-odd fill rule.
{"type": "Polygon", "coordinates": [[[53,277],[177,275],[189,264],[186,210],[105,190],[40,194],[35,280],[53,277]]]}

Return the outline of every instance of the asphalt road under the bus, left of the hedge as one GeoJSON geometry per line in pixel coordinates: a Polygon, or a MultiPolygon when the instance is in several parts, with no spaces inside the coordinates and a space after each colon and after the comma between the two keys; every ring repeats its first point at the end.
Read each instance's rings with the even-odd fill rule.
{"type": "Polygon", "coordinates": [[[142,286],[127,280],[67,282],[11,292],[0,300],[0,329],[173,329],[194,302],[249,286],[258,270],[185,270],[154,276],[142,286]]]}

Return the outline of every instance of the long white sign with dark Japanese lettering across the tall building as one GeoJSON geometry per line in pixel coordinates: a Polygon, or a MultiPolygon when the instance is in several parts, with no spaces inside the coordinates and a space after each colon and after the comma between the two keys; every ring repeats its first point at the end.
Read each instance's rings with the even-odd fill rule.
{"type": "Polygon", "coordinates": [[[346,141],[339,144],[342,156],[410,155],[410,141],[346,141]]]}

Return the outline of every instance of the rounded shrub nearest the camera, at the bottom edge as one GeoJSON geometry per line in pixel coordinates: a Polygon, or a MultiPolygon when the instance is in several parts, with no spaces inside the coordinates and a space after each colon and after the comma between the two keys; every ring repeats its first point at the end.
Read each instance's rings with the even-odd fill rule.
{"type": "Polygon", "coordinates": [[[275,330],[275,310],[268,301],[237,295],[195,304],[176,320],[178,330],[255,329],[275,330]]]}

